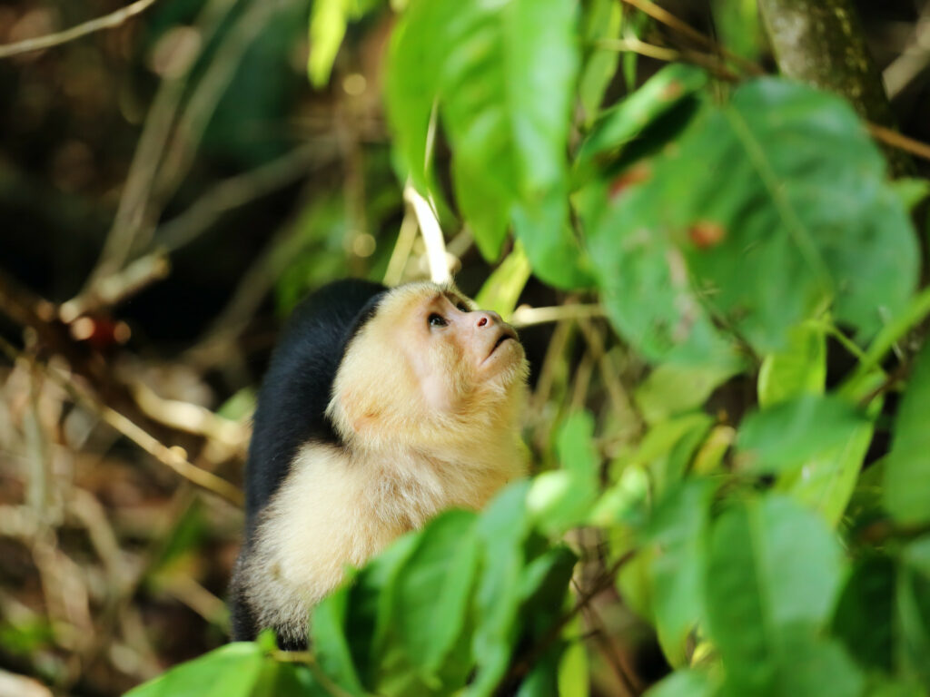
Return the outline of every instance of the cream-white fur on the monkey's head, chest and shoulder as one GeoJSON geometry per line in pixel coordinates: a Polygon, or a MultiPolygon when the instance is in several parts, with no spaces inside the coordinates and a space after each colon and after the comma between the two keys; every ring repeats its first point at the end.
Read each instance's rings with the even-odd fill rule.
{"type": "Polygon", "coordinates": [[[424,331],[424,312],[444,302],[436,296],[419,284],[382,303],[343,358],[327,409],[347,446],[304,446],[259,519],[243,589],[259,625],[281,638],[306,636],[312,606],[346,566],[446,508],[484,506],[525,474],[523,349],[506,342],[499,365],[476,367],[470,351],[483,359],[493,341],[476,344],[487,335],[424,331]]]}

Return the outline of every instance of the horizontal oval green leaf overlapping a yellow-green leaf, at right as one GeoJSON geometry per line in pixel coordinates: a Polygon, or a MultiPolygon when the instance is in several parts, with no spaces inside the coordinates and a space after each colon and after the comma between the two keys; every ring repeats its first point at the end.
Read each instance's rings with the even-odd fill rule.
{"type": "Polygon", "coordinates": [[[806,395],[744,418],[737,447],[753,471],[789,470],[844,446],[864,423],[847,401],[806,395]]]}

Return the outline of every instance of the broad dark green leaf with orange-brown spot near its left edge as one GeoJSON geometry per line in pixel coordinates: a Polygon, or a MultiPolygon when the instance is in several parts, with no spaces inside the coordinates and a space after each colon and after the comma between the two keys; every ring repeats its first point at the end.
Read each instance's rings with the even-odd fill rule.
{"type": "Polygon", "coordinates": [[[874,334],[917,281],[916,238],[885,163],[842,99],[775,78],[740,86],[664,169],[668,220],[697,288],[758,351],[832,297],[874,334]],[[752,283],[746,283],[752,279],[752,283]]]}

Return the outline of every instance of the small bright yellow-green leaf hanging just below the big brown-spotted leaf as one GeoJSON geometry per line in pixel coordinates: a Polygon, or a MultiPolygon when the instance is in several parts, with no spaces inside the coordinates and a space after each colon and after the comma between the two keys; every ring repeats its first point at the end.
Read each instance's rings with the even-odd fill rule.
{"type": "Polygon", "coordinates": [[[821,327],[793,327],[785,349],[765,357],[759,370],[759,406],[765,408],[804,394],[823,394],[827,340],[821,327]]]}

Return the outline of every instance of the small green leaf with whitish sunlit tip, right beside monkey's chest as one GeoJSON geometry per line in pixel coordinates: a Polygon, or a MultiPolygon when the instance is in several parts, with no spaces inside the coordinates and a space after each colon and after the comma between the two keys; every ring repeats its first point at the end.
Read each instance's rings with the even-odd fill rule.
{"type": "Polygon", "coordinates": [[[565,533],[584,522],[591,512],[598,494],[600,465],[593,435],[591,414],[571,414],[560,428],[556,441],[562,469],[543,472],[533,480],[526,506],[546,533],[565,533]]]}

